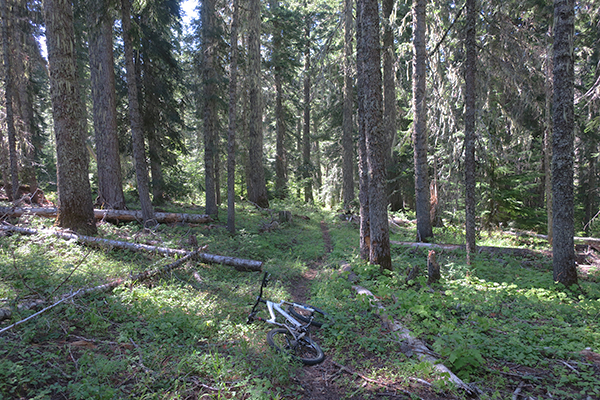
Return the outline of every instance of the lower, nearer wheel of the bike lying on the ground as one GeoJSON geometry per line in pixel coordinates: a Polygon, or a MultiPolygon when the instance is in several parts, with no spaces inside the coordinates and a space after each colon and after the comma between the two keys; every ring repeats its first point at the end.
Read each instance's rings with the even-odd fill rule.
{"type": "Polygon", "coordinates": [[[285,328],[267,332],[267,343],[276,351],[287,353],[306,365],[316,365],[325,360],[321,346],[309,337],[304,337],[294,344],[294,336],[285,328]]]}

